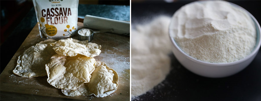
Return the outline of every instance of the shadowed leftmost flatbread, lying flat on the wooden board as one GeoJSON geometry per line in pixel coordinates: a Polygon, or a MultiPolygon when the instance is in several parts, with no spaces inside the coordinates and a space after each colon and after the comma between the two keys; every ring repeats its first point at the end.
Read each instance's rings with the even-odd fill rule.
{"type": "Polygon", "coordinates": [[[35,76],[46,76],[45,64],[50,61],[50,57],[56,54],[52,49],[53,39],[41,41],[35,46],[31,46],[18,57],[17,66],[13,73],[22,77],[32,78],[35,76]]]}

